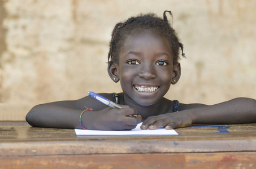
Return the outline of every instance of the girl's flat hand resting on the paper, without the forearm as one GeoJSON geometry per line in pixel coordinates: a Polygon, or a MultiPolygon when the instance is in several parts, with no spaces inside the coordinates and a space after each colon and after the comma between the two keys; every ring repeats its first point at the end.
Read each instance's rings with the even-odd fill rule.
{"type": "Polygon", "coordinates": [[[160,114],[147,118],[141,125],[142,130],[155,130],[165,126],[166,130],[173,128],[189,127],[193,124],[192,114],[187,111],[160,114]]]}

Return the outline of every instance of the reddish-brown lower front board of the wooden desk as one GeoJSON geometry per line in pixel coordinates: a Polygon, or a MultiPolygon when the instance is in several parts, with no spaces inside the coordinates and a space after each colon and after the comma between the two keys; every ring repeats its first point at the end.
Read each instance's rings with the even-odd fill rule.
{"type": "Polygon", "coordinates": [[[0,158],[0,168],[255,168],[256,152],[34,155],[0,158]]]}

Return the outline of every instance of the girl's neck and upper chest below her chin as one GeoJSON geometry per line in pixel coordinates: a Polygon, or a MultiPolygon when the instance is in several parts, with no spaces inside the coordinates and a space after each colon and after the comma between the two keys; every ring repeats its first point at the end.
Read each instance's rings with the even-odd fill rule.
{"type": "Polygon", "coordinates": [[[153,105],[142,106],[135,103],[129,96],[125,95],[124,93],[119,95],[120,104],[129,105],[132,108],[136,108],[138,110],[138,114],[140,114],[142,117],[142,121],[153,115],[172,112],[172,101],[167,100],[164,97],[153,105]]]}

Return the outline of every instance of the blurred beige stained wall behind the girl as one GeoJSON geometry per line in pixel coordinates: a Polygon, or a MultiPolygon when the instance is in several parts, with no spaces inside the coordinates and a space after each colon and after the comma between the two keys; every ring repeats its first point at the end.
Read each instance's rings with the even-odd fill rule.
{"type": "Polygon", "coordinates": [[[166,97],[215,104],[256,99],[256,1],[0,0],[0,120],[33,105],[120,92],[107,74],[110,33],[140,12],[173,13],[187,59],[166,97]]]}

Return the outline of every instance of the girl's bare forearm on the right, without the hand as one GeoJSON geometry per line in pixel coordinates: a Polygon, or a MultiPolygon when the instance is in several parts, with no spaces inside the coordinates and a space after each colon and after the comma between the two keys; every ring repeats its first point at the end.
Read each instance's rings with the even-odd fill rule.
{"type": "Polygon", "coordinates": [[[256,100],[236,98],[220,104],[191,109],[193,123],[256,123],[256,100]]]}

